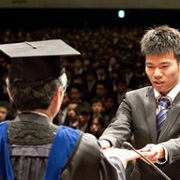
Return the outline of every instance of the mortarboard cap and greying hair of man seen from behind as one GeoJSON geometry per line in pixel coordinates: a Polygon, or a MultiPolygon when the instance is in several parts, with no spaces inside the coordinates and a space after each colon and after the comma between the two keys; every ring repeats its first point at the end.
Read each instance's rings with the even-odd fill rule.
{"type": "Polygon", "coordinates": [[[57,90],[61,97],[67,86],[62,56],[79,52],[61,40],[47,40],[0,45],[11,59],[7,85],[20,111],[47,109],[57,90]]]}

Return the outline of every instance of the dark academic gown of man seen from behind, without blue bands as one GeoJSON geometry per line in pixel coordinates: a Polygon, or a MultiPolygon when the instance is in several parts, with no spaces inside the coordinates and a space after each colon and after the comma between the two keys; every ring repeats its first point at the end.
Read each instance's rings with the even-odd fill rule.
{"type": "MultiPolygon", "coordinates": [[[[41,180],[58,126],[48,117],[23,113],[8,123],[8,145],[15,180],[41,180]]],[[[125,180],[118,158],[106,159],[97,139],[83,133],[61,173],[61,180],[125,180]]],[[[61,149],[59,149],[61,151],[61,149]]]]}

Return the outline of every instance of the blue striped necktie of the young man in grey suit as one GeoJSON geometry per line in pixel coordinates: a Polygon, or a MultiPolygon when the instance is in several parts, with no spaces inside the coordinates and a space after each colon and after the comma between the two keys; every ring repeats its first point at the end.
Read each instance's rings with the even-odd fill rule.
{"type": "Polygon", "coordinates": [[[171,100],[167,97],[160,97],[158,98],[158,103],[160,105],[160,111],[156,116],[156,121],[157,121],[157,133],[159,136],[162,126],[164,124],[164,121],[166,119],[168,107],[171,104],[171,100]]]}

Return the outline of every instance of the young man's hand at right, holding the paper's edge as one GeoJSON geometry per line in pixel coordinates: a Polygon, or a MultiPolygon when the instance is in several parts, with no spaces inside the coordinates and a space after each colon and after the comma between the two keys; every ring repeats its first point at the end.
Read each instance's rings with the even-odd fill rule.
{"type": "Polygon", "coordinates": [[[143,152],[145,157],[147,157],[152,163],[165,157],[165,150],[160,144],[147,144],[144,148],[140,149],[140,152],[143,152]]]}

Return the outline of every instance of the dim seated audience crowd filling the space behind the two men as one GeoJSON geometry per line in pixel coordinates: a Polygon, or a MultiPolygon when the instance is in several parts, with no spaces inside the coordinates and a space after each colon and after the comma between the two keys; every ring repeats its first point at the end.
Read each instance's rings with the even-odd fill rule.
{"type": "MultiPolygon", "coordinates": [[[[30,32],[6,30],[1,32],[0,39],[1,44],[62,39],[81,52],[80,56],[62,59],[68,87],[54,123],[90,132],[98,138],[114,120],[125,93],[149,84],[139,50],[143,32],[141,28],[127,27],[58,27],[30,32]]],[[[11,107],[5,119],[13,119],[17,114],[6,91],[9,64],[0,56],[0,108],[6,108],[4,102],[11,107]]]]}

